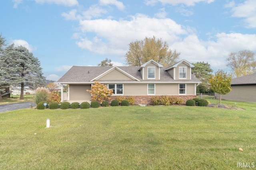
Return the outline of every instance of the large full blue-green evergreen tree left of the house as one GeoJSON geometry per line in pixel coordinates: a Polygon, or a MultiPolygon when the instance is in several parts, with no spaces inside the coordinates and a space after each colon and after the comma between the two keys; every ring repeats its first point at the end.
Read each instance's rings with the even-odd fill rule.
{"type": "Polygon", "coordinates": [[[24,86],[34,89],[45,83],[40,61],[26,47],[10,45],[6,49],[3,59],[8,66],[7,71],[15,76],[12,82],[20,84],[20,99],[24,99],[24,86]]]}

